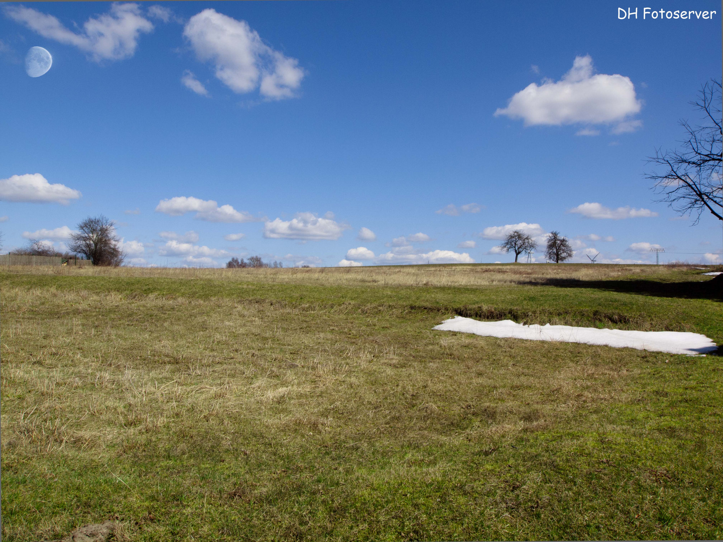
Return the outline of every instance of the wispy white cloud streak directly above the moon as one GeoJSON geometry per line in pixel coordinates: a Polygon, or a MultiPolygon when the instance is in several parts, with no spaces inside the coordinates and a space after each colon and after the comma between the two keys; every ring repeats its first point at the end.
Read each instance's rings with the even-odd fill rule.
{"type": "Polygon", "coordinates": [[[130,58],[140,34],[153,30],[153,23],[142,16],[138,4],[111,4],[110,13],[90,17],[81,33],[74,33],[56,17],[33,8],[8,6],[4,12],[43,38],[77,47],[96,62],[130,58]]]}

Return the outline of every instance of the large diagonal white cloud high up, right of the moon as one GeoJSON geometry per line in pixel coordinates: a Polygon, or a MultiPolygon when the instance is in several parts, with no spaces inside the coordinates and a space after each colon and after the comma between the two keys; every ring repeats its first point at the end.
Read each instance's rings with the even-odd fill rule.
{"type": "Polygon", "coordinates": [[[184,37],[197,58],[212,62],[215,76],[235,93],[258,88],[268,99],[291,98],[304,78],[299,61],[266,45],[246,21],[215,9],[204,9],[191,17],[184,37]]]}

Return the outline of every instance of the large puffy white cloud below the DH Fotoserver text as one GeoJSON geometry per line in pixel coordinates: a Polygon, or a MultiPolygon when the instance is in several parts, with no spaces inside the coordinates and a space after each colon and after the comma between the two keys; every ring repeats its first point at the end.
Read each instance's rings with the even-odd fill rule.
{"type": "MultiPolygon", "coordinates": [[[[495,116],[523,119],[525,126],[617,124],[641,110],[635,85],[623,75],[593,75],[590,56],[576,56],[573,67],[558,82],[531,83],[516,93],[495,116]]],[[[630,125],[632,126],[632,125],[630,125]]]]}

